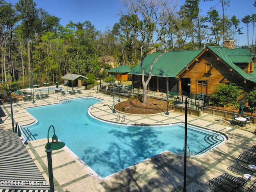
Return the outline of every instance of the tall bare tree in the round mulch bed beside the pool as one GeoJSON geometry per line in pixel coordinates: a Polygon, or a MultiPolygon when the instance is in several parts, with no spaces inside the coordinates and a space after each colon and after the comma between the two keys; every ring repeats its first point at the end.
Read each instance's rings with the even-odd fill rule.
{"type": "Polygon", "coordinates": [[[164,52],[152,62],[147,78],[145,77],[143,61],[148,52],[157,46],[157,42],[162,42],[166,50],[166,38],[170,34],[169,26],[178,4],[172,5],[169,0],[122,0],[121,3],[127,12],[127,14],[121,13],[121,16],[128,15],[126,22],[132,27],[131,45],[134,47],[134,40],[137,38],[139,40],[139,47],[134,48],[140,50],[143,104],[146,104],[147,86],[152,77],[152,67],[164,52]]]}

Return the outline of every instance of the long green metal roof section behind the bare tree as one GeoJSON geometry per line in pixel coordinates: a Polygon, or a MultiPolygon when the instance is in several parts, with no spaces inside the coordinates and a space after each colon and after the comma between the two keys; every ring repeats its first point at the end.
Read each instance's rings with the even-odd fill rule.
{"type": "MultiPolygon", "coordinates": [[[[152,68],[152,76],[166,76],[166,73],[170,71],[169,77],[176,77],[182,70],[184,70],[192,60],[200,54],[202,50],[187,50],[187,51],[171,51],[164,53],[154,64],[152,68]]],[[[151,55],[146,56],[144,59],[145,75],[149,75],[150,65],[161,54],[161,52],[154,52],[151,55]]],[[[129,74],[141,75],[140,63],[134,67],[129,74]]]]}

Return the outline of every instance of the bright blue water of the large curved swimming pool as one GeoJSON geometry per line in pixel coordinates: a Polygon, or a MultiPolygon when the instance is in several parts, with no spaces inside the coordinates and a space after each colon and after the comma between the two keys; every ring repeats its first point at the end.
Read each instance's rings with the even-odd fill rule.
{"type": "MultiPolygon", "coordinates": [[[[47,138],[50,125],[58,139],[65,142],[82,161],[102,178],[141,162],[165,150],[184,150],[184,126],[124,126],[92,118],[87,107],[100,100],[88,98],[64,101],[42,107],[28,108],[38,120],[25,127],[36,138],[47,138]]],[[[188,127],[187,144],[190,151],[201,153],[212,145],[205,137],[213,134],[188,127]]],[[[53,135],[50,130],[49,138],[53,135]]],[[[224,140],[224,139],[223,139],[224,140]]]]}

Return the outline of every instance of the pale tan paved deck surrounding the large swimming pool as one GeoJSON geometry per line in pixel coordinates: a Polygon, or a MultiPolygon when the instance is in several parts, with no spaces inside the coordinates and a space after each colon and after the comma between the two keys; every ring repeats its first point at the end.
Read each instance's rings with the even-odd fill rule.
{"type": "MultiPolygon", "coordinates": [[[[87,97],[88,95],[101,98],[104,101],[94,104],[90,113],[101,120],[116,122],[119,114],[120,120],[113,126],[118,126],[122,117],[123,124],[164,124],[174,122],[184,122],[184,114],[169,111],[169,115],[164,112],[155,115],[133,115],[116,111],[115,114],[108,107],[113,106],[113,97],[98,93],[94,90],[81,90],[82,94],[50,93],[49,98],[36,100],[36,102],[20,101],[12,104],[15,124],[20,126],[31,124],[34,119],[23,108],[43,106],[59,103],[60,100],[87,97]]],[[[121,101],[124,99],[120,98],[121,101]]],[[[115,100],[117,103],[117,100],[115,100]]],[[[6,117],[2,117],[3,124],[0,130],[12,131],[11,118],[7,116],[11,113],[10,104],[2,104],[2,110],[6,117]],[[5,120],[6,119],[6,120],[5,120]]],[[[87,110],[87,109],[86,109],[87,110]]],[[[85,110],[85,111],[86,111],[85,110]]],[[[58,118],[58,114],[53,114],[53,118],[58,118]]],[[[78,114],[79,119],[79,114],[78,114]]],[[[255,124],[251,128],[233,126],[231,119],[203,113],[201,117],[188,115],[188,123],[207,127],[213,130],[222,130],[228,136],[228,140],[218,147],[205,154],[192,156],[186,161],[186,189],[190,192],[201,190],[203,192],[212,191],[206,182],[223,173],[228,173],[236,177],[242,177],[230,172],[227,168],[234,164],[234,160],[244,151],[256,144],[255,124]],[[232,137],[232,131],[234,136],[232,137]]],[[[50,126],[50,125],[49,125],[50,126]]],[[[48,129],[48,128],[47,128],[48,129]]],[[[47,131],[46,131],[47,134],[47,131]]],[[[75,138],[70,138],[75,139],[75,138]]],[[[86,139],[86,135],[85,135],[86,139]]],[[[44,149],[47,139],[34,140],[28,143],[27,149],[34,162],[48,181],[47,156],[44,149]]],[[[61,140],[61,138],[60,138],[61,140]]],[[[100,179],[84,162],[74,155],[66,146],[60,150],[52,152],[52,164],[54,174],[54,187],[56,192],[170,192],[182,191],[184,157],[165,151],[126,168],[120,172],[100,179]]],[[[122,159],[117,164],[122,164],[122,159]]]]}

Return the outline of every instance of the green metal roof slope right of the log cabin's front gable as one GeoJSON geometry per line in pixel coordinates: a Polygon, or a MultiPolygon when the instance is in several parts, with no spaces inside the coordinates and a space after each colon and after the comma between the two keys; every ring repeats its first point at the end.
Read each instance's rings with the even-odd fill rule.
{"type": "Polygon", "coordinates": [[[252,58],[255,57],[247,49],[242,48],[234,48],[229,49],[227,47],[215,47],[215,46],[208,46],[208,48],[214,52],[220,59],[222,59],[230,68],[236,71],[240,76],[244,79],[256,82],[256,71],[254,69],[254,73],[247,74],[244,70],[236,65],[236,63],[250,63],[252,58]]]}

